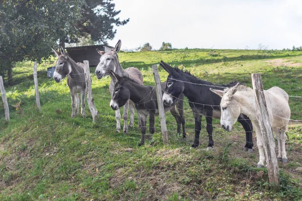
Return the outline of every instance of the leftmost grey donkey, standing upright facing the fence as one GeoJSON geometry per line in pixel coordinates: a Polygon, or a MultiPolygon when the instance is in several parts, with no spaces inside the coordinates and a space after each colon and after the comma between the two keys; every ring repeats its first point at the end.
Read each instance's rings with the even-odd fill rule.
{"type": "Polygon", "coordinates": [[[60,82],[67,76],[67,85],[70,89],[71,96],[71,118],[79,113],[81,93],[81,113],[83,117],[86,117],[85,113],[85,95],[86,95],[86,82],[83,69],[83,63],[75,63],[71,57],[65,53],[64,48],[60,45],[60,52],[51,48],[55,55],[58,57],[55,63],[55,71],[53,73],[53,79],[56,82],[60,82]]]}

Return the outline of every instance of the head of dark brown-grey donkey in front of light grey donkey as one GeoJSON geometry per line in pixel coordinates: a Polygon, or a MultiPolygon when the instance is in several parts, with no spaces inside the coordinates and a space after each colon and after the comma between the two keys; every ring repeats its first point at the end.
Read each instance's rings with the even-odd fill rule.
{"type": "Polygon", "coordinates": [[[113,71],[110,71],[110,74],[116,80],[112,99],[110,101],[110,107],[112,110],[117,110],[127,103],[128,99],[130,98],[130,91],[125,85],[126,80],[124,80],[123,77],[119,76],[113,71]]]}

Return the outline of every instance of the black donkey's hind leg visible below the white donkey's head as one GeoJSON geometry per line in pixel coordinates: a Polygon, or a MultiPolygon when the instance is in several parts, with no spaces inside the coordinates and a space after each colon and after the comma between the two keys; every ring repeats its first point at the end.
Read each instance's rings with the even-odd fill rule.
{"type": "Polygon", "coordinates": [[[250,118],[244,114],[240,114],[238,117],[238,122],[243,126],[246,132],[246,145],[244,146],[244,150],[249,153],[253,152],[253,124],[250,118]]]}

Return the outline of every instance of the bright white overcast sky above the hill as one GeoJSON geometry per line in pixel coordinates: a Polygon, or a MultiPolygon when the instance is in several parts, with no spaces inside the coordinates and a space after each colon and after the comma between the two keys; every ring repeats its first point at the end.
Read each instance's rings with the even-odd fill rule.
{"type": "Polygon", "coordinates": [[[121,20],[109,45],[268,49],[302,46],[302,0],[114,0],[121,20]]]}

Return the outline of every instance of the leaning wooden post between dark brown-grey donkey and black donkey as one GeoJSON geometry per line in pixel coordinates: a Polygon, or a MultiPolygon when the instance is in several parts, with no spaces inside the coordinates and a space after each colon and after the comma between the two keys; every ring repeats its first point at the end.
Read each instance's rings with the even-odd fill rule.
{"type": "Polygon", "coordinates": [[[152,65],[152,69],[153,69],[156,92],[157,92],[157,97],[158,97],[158,105],[159,105],[159,114],[160,114],[162,134],[163,134],[163,142],[168,144],[168,133],[167,133],[165,109],[164,109],[164,103],[163,103],[163,93],[162,93],[161,79],[160,79],[160,75],[159,75],[157,65],[152,65]]]}

